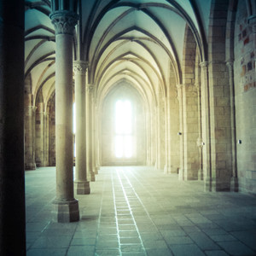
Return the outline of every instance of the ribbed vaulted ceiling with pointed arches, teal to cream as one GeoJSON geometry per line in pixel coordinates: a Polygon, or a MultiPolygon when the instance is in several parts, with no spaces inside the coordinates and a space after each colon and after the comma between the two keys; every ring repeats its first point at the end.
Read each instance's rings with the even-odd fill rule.
{"type": "MultiPolygon", "coordinates": [[[[186,26],[207,58],[210,0],[81,0],[74,59],[90,64],[98,91],[125,80],[141,91],[165,90],[170,70],[182,83],[186,26]]],[[[44,102],[55,91],[55,30],[49,0],[26,1],[25,74],[44,102]]]]}

